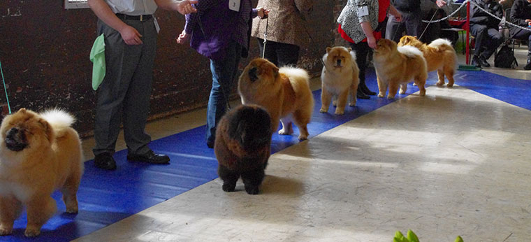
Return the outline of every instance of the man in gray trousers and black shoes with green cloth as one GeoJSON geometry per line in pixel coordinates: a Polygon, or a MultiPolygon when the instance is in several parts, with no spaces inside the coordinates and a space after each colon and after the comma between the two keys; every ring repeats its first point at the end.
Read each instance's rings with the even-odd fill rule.
{"type": "Polygon", "coordinates": [[[127,159],[168,164],[170,157],[155,154],[145,133],[150,110],[153,64],[157,48],[158,7],[182,15],[195,13],[197,1],[177,0],[88,0],[99,17],[98,35],[104,34],[106,76],[96,92],[94,164],[115,170],[115,152],[120,122],[124,122],[127,159]]]}

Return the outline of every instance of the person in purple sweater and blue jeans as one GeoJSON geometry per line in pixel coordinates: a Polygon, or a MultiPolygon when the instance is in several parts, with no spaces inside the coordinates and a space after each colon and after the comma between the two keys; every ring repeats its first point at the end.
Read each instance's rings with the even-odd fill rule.
{"type": "Polygon", "coordinates": [[[191,48],[210,59],[212,90],[206,141],[213,148],[217,122],[226,112],[240,57],[247,57],[252,19],[266,17],[269,11],[252,8],[251,0],[198,0],[195,8],[197,13],[186,15],[177,43],[190,42],[191,48]]]}

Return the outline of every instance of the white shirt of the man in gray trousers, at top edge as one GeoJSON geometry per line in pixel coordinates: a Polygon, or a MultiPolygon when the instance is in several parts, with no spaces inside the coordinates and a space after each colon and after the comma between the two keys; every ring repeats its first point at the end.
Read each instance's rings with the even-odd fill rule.
{"type": "Polygon", "coordinates": [[[155,13],[157,4],[154,0],[106,0],[114,13],[126,15],[148,15],[155,13]]]}

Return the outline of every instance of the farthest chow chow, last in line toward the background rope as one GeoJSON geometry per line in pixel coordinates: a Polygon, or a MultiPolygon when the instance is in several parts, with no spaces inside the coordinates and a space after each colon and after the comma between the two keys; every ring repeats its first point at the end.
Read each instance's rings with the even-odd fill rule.
{"type": "Polygon", "coordinates": [[[403,36],[398,46],[411,45],[424,55],[428,72],[437,70],[439,81],[437,85],[444,85],[444,76],[448,78],[448,87],[453,86],[453,74],[456,73],[457,55],[453,50],[452,43],[444,38],[437,38],[429,45],[422,43],[414,36],[403,36]]]}

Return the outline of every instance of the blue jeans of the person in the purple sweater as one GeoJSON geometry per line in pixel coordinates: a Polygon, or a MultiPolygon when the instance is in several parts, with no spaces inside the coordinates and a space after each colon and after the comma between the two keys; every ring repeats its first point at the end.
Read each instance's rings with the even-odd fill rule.
{"type": "Polygon", "coordinates": [[[207,108],[207,136],[208,147],[214,147],[217,122],[226,112],[228,97],[233,90],[233,80],[238,71],[238,63],[242,56],[242,45],[231,41],[226,47],[226,57],[221,60],[210,59],[212,72],[212,90],[207,108]]]}

